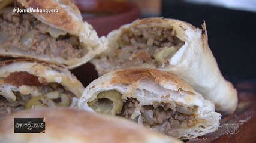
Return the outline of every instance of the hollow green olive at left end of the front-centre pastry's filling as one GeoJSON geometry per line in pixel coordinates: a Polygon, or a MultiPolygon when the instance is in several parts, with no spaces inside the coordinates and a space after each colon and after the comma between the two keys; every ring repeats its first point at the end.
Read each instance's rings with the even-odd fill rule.
{"type": "Polygon", "coordinates": [[[121,96],[118,91],[101,92],[94,101],[88,102],[88,105],[98,113],[116,115],[123,107],[121,96]]]}

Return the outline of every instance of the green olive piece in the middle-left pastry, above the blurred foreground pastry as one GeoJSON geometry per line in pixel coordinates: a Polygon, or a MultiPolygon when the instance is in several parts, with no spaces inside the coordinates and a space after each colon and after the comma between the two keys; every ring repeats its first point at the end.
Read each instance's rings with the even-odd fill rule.
{"type": "Polygon", "coordinates": [[[25,108],[46,107],[46,105],[43,104],[45,100],[46,97],[44,96],[32,97],[26,102],[25,108]]]}

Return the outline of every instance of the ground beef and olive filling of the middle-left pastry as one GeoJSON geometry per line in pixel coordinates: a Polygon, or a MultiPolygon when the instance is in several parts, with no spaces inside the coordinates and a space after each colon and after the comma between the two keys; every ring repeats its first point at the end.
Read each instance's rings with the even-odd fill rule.
{"type": "MultiPolygon", "coordinates": [[[[32,86],[30,86],[32,87],[32,86]]],[[[67,107],[71,104],[74,94],[65,91],[65,89],[57,83],[49,83],[49,85],[42,85],[32,88],[33,95],[22,95],[20,92],[14,92],[16,101],[8,101],[4,96],[0,95],[0,117],[11,114],[14,111],[24,110],[25,108],[40,108],[40,107],[67,107]]]]}

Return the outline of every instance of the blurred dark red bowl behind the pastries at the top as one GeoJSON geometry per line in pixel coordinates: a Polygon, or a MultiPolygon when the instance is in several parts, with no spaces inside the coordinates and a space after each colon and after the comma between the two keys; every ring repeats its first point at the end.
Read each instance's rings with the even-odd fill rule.
{"type": "Polygon", "coordinates": [[[99,36],[107,35],[140,17],[137,5],[113,0],[75,0],[85,21],[92,24],[99,36]]]}

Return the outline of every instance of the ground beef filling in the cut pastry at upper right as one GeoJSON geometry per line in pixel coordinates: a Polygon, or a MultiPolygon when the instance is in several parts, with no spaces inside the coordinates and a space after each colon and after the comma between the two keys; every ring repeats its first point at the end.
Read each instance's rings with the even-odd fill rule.
{"type": "Polygon", "coordinates": [[[109,63],[118,68],[163,66],[184,45],[175,35],[163,27],[131,27],[119,39],[119,49],[110,51],[109,63]]]}

